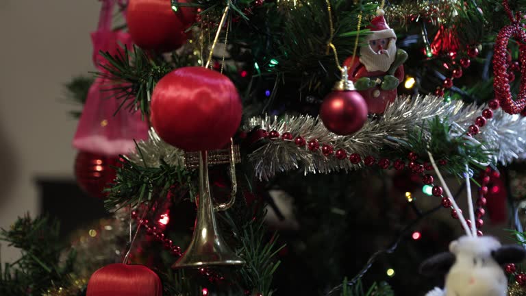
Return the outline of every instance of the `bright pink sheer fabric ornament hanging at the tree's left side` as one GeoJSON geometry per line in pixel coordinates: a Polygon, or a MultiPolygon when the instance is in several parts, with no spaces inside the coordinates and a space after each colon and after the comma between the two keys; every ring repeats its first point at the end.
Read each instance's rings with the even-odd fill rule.
{"type": "MultiPolygon", "coordinates": [[[[128,33],[112,31],[112,12],[115,4],[116,0],[102,1],[99,27],[91,34],[93,62],[103,73],[106,70],[100,64],[105,60],[99,55],[99,51],[116,55],[118,51],[123,51],[121,45],[132,47],[128,33]]],[[[114,87],[114,83],[106,78],[95,79],[82,110],[73,138],[73,147],[91,153],[117,156],[134,149],[134,139],[147,138],[148,123],[142,121],[140,112],[120,110],[115,114],[121,101],[114,96],[116,90],[108,90],[114,87]]]]}

